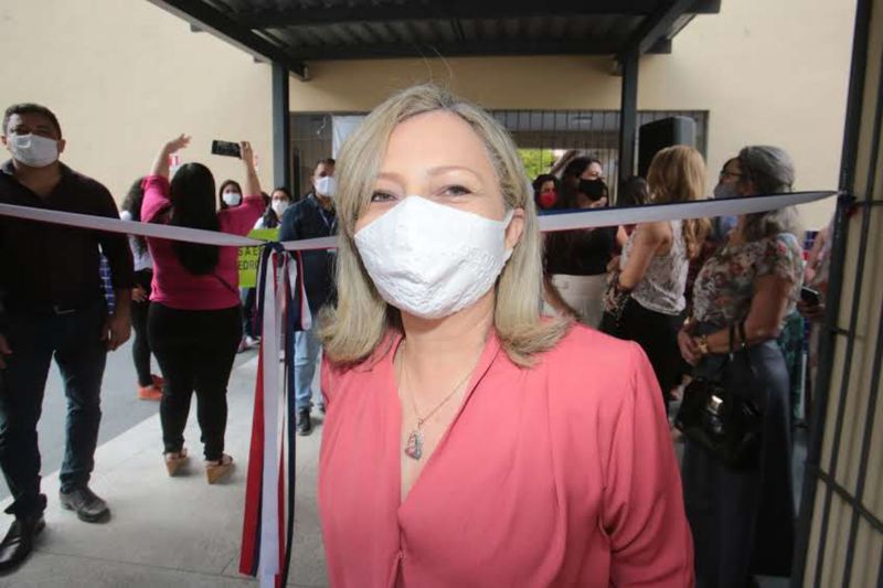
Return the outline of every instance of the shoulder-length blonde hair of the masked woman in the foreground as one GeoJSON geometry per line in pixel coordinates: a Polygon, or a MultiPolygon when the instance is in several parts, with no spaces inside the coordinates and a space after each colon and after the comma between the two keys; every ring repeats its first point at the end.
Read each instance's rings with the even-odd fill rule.
{"type": "Polygon", "coordinates": [[[509,133],[479,107],[424,84],[398,92],[377,106],[338,158],[338,302],[322,311],[319,332],[325,352],[336,363],[362,363],[387,340],[391,330],[402,331],[398,310],[381,298],[355,248],[355,222],[371,201],[393,129],[412,117],[438,110],[460,117],[472,128],[487,148],[507,210],[524,210],[521,240],[496,286],[493,327],[507,355],[520,366],[532,365],[532,356],[554,346],[572,322],[541,318],[542,239],[533,190],[509,133]]]}

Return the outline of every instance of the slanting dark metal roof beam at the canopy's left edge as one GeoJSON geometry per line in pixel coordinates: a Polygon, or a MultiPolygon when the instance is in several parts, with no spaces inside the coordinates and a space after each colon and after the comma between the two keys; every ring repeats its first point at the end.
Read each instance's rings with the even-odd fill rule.
{"type": "Polygon", "coordinates": [[[281,47],[256,35],[233,18],[200,0],[149,0],[153,4],[185,20],[200,30],[211,32],[227,43],[249,53],[258,61],[281,65],[300,79],[307,79],[307,66],[291,58],[281,47]]]}

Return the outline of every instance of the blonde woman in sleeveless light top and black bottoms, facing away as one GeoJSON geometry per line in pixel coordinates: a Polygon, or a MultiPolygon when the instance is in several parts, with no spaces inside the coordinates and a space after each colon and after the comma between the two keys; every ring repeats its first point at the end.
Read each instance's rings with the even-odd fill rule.
{"type": "MultiPolygon", "coordinates": [[[[691,147],[662,149],[650,163],[647,183],[651,204],[702,200],[705,162],[691,147]]],[[[704,218],[640,223],[610,264],[602,330],[643,348],[667,404],[683,373],[678,330],[687,308],[690,259],[699,255],[709,227],[704,218]]]]}

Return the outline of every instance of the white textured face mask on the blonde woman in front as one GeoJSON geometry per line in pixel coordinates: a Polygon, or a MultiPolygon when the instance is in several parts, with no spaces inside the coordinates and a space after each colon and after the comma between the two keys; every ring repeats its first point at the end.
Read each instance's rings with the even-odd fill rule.
{"type": "Polygon", "coordinates": [[[408,196],[355,234],[355,246],[386,302],[424,319],[474,304],[493,287],[511,249],[504,221],[408,196]]]}

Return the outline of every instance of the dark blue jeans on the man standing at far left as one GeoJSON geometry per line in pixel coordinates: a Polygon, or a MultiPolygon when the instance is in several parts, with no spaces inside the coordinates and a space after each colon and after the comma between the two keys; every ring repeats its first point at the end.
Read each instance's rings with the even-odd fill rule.
{"type": "Polygon", "coordinates": [[[43,512],[36,424],[43,407],[50,363],[55,362],[67,396],[63,492],[83,488],[94,467],[100,389],[107,348],[100,340],[104,301],[68,313],[10,312],[3,333],[12,349],[0,382],[0,468],[13,503],[6,512],[32,516],[43,512]]]}

